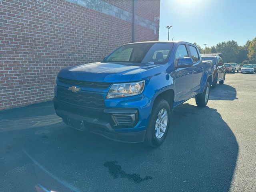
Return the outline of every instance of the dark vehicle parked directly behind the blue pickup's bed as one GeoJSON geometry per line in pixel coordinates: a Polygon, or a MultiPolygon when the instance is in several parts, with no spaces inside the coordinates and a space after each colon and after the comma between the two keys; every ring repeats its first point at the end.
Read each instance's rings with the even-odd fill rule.
{"type": "Polygon", "coordinates": [[[219,84],[224,84],[226,77],[226,67],[224,66],[224,62],[220,56],[201,56],[202,60],[212,60],[214,63],[214,71],[213,71],[213,80],[212,80],[212,88],[215,88],[217,82],[219,84]]]}

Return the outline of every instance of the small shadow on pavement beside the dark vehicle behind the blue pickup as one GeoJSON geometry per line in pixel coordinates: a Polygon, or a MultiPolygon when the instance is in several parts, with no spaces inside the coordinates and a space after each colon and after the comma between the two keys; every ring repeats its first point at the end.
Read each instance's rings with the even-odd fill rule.
{"type": "Polygon", "coordinates": [[[217,84],[216,88],[211,88],[209,100],[230,100],[236,98],[236,88],[227,84],[217,84]]]}

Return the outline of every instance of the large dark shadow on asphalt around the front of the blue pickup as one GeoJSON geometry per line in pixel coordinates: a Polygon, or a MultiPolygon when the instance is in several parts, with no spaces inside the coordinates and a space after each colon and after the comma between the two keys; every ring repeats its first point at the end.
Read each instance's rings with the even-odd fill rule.
{"type": "MultiPolygon", "coordinates": [[[[49,103],[43,110],[17,110],[25,117],[29,109],[26,118],[44,118],[54,113],[49,103]]],[[[6,111],[5,117],[8,113],[12,116],[16,110],[6,111]]],[[[173,116],[173,126],[158,148],[114,142],[62,122],[2,132],[0,188],[35,191],[40,184],[62,192],[228,192],[238,155],[229,126],[208,107],[181,104],[173,116]]]]}

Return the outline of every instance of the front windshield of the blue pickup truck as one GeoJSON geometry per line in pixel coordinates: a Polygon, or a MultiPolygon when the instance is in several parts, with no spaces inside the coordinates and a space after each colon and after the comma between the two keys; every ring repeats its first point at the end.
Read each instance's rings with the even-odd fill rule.
{"type": "Polygon", "coordinates": [[[165,64],[168,60],[172,43],[128,44],[118,48],[103,62],[135,62],[165,64]]]}

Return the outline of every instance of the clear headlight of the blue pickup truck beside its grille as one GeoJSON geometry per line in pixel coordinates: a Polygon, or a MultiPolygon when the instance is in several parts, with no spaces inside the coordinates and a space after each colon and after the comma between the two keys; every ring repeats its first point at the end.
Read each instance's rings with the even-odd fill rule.
{"type": "Polygon", "coordinates": [[[145,81],[113,84],[106,96],[107,99],[134,96],[141,94],[145,81]]]}

